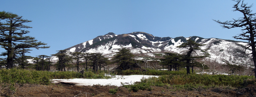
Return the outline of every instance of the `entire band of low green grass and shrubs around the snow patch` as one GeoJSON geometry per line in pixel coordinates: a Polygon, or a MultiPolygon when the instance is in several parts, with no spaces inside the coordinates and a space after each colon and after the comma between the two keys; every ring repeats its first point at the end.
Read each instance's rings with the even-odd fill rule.
{"type": "MultiPolygon", "coordinates": [[[[99,72],[79,72],[73,71],[35,71],[35,70],[23,70],[23,69],[1,69],[0,70],[0,84],[6,84],[10,90],[14,84],[40,84],[50,85],[51,79],[70,79],[70,78],[110,78],[106,76],[106,71],[99,72]]],[[[209,87],[244,87],[249,84],[256,84],[254,76],[238,76],[238,75],[209,75],[209,74],[186,74],[185,71],[157,71],[149,70],[125,70],[115,71],[115,74],[121,75],[159,75],[158,78],[142,78],[141,82],[134,83],[132,85],[124,85],[131,91],[137,92],[138,90],[152,90],[152,86],[168,86],[172,87],[173,91],[186,90],[198,90],[209,87]]],[[[111,75],[113,75],[112,73],[111,75]]],[[[109,90],[109,93],[115,94],[116,89],[109,90]]]]}

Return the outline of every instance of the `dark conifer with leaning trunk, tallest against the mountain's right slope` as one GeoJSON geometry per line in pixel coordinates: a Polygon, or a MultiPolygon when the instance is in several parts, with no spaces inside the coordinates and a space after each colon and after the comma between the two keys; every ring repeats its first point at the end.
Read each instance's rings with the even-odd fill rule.
{"type": "Polygon", "coordinates": [[[198,58],[203,58],[203,57],[209,56],[209,54],[207,54],[205,50],[200,48],[201,46],[204,46],[204,45],[196,43],[195,41],[192,41],[190,39],[188,39],[187,42],[182,43],[180,46],[177,46],[178,48],[187,48],[188,49],[187,55],[183,59],[183,60],[186,61],[185,64],[186,64],[186,68],[187,68],[187,74],[190,74],[189,67],[193,67],[193,66],[196,66],[196,64],[198,64],[197,62],[193,62],[192,63],[192,61],[194,59],[198,59],[198,58]],[[204,52],[203,56],[199,56],[196,53],[196,50],[201,50],[202,52],[204,52]],[[196,53],[196,56],[192,55],[193,52],[196,53]]]}

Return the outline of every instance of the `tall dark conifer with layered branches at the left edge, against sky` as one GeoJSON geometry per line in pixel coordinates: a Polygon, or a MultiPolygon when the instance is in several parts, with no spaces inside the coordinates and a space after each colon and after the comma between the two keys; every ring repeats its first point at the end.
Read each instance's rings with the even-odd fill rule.
{"type": "Polygon", "coordinates": [[[28,19],[22,19],[22,16],[11,12],[0,11],[0,45],[7,51],[6,68],[13,67],[13,57],[15,50],[19,48],[49,48],[44,42],[36,42],[35,37],[24,36],[29,31],[24,28],[32,28],[24,23],[32,22],[28,19]]]}

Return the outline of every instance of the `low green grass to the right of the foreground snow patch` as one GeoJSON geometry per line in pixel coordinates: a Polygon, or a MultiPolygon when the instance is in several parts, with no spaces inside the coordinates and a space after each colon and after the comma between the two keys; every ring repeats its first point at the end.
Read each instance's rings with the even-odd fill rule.
{"type": "MultiPolygon", "coordinates": [[[[128,71],[125,71],[128,72],[128,71]]],[[[131,72],[131,71],[129,71],[131,72]]],[[[145,71],[146,74],[161,75],[158,78],[141,79],[141,82],[132,85],[123,85],[131,91],[152,90],[152,86],[170,86],[173,90],[198,90],[210,87],[244,87],[249,84],[256,84],[254,76],[238,75],[209,75],[209,74],[184,74],[183,71],[145,71]]],[[[145,74],[145,73],[144,73],[145,74]]]]}

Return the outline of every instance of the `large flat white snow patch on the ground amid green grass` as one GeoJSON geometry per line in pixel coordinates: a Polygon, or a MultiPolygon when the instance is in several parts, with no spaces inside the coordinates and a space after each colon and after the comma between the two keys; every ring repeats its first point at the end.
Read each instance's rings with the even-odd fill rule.
{"type": "Polygon", "coordinates": [[[70,83],[79,86],[93,86],[93,85],[114,85],[114,86],[122,86],[121,82],[125,85],[134,84],[134,82],[140,82],[142,78],[149,77],[158,77],[152,75],[125,75],[120,76],[116,75],[115,78],[110,79],[84,79],[84,78],[75,78],[75,79],[52,79],[52,83],[70,83]]]}

